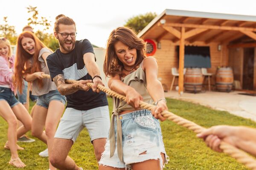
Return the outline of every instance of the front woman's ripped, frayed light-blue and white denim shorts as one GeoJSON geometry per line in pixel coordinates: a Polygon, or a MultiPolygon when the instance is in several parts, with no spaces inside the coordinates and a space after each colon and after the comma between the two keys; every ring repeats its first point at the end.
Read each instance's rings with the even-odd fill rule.
{"type": "MultiPolygon", "coordinates": [[[[168,162],[163,144],[160,122],[148,110],[139,110],[119,116],[122,123],[123,162],[119,160],[117,148],[110,157],[110,141],[107,139],[100,165],[131,170],[131,164],[150,159],[160,160],[160,167],[168,162]],[[164,153],[165,160],[161,153],[164,153]]],[[[116,118],[115,118],[116,135],[116,118]]],[[[117,142],[116,142],[117,146],[117,142]]]]}

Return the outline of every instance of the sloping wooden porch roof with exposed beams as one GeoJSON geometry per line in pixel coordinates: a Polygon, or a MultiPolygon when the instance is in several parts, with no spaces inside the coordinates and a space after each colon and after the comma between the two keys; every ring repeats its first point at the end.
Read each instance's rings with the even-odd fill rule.
{"type": "Polygon", "coordinates": [[[166,9],[148,24],[138,37],[143,39],[180,40],[181,28],[185,40],[229,43],[244,35],[256,40],[256,16],[218,14],[198,11],[166,9]]]}

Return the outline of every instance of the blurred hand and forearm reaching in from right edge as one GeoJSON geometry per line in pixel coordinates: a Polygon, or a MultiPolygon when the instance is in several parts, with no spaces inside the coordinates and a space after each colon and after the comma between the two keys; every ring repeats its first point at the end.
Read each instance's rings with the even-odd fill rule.
{"type": "Polygon", "coordinates": [[[218,125],[210,127],[197,135],[203,138],[207,146],[221,152],[221,140],[247,153],[256,156],[256,129],[244,126],[218,125]]]}

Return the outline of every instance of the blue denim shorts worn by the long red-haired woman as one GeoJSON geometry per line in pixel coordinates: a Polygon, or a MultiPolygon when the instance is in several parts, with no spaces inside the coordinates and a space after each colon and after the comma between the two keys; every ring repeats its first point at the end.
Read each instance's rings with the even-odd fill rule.
{"type": "Polygon", "coordinates": [[[37,99],[37,101],[36,101],[36,105],[42,106],[42,107],[48,109],[49,103],[50,103],[52,100],[60,101],[60,102],[62,102],[64,105],[66,104],[66,97],[65,97],[65,96],[62,96],[62,95],[58,92],[58,90],[53,90],[53,91],[49,91],[49,93],[47,93],[47,94],[43,94],[43,95],[41,95],[41,96],[38,96],[38,99],[37,99]]]}

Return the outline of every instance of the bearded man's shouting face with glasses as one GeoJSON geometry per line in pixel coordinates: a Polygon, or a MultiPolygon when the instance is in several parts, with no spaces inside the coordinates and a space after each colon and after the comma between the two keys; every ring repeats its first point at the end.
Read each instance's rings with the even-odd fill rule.
{"type": "Polygon", "coordinates": [[[60,50],[62,53],[69,53],[75,48],[76,37],[72,38],[70,37],[70,35],[68,35],[67,38],[63,38],[61,34],[63,33],[71,34],[76,32],[76,26],[60,24],[58,27],[59,27],[59,30],[58,32],[54,32],[54,35],[58,39],[60,50]]]}

